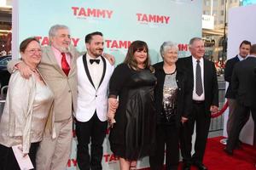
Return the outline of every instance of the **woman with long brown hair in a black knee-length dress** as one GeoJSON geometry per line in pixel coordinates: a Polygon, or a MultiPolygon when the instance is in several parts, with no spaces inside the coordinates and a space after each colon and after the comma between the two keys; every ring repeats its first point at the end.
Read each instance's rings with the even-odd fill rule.
{"type": "Polygon", "coordinates": [[[153,72],[147,43],[135,41],[109,82],[108,119],[115,122],[109,141],[113,154],[119,156],[121,170],[136,167],[137,160],[150,155],[154,146],[156,78],[153,72]],[[115,111],[117,98],[119,106],[115,111]]]}

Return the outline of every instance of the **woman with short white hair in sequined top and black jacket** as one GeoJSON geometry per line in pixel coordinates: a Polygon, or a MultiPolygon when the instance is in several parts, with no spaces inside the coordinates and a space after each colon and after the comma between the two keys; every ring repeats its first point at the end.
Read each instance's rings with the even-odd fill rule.
{"type": "Polygon", "coordinates": [[[192,87],[186,75],[177,67],[177,45],[164,42],[160,47],[163,62],[154,66],[157,85],[154,89],[157,114],[156,146],[149,157],[150,168],[163,168],[166,145],[166,169],[177,170],[179,161],[179,127],[188,120],[192,87]]]}

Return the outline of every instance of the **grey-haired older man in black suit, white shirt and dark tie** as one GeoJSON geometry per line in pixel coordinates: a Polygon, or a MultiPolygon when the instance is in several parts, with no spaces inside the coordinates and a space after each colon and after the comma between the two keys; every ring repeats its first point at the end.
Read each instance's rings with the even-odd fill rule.
{"type": "Polygon", "coordinates": [[[189,120],[181,128],[181,151],[183,170],[189,170],[193,164],[200,170],[206,170],[202,163],[207,144],[207,135],[211,122],[211,113],[218,111],[218,81],[214,64],[204,59],[204,42],[194,37],[189,42],[191,56],[178,59],[177,65],[189,72],[189,83],[193,86],[193,104],[189,120]],[[191,156],[191,139],[196,123],[195,154],[191,156]]]}

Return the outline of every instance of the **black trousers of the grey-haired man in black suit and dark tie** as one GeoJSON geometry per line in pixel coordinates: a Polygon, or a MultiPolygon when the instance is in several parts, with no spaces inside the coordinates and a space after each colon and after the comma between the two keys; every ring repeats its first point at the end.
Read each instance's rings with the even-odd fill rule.
{"type": "Polygon", "coordinates": [[[181,152],[183,163],[202,163],[206,150],[210,122],[211,116],[206,113],[204,102],[193,102],[192,114],[189,116],[188,122],[183,123],[181,127],[181,152]],[[191,157],[191,141],[195,125],[195,154],[191,157]]]}

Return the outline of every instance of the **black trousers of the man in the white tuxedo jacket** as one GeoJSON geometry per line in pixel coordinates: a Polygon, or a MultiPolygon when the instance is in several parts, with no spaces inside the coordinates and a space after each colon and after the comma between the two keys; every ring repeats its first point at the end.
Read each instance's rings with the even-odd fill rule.
{"type": "Polygon", "coordinates": [[[77,121],[77,161],[80,170],[102,169],[102,144],[106,136],[107,127],[108,122],[101,122],[98,116],[96,115],[96,112],[88,122],[77,121]]]}

